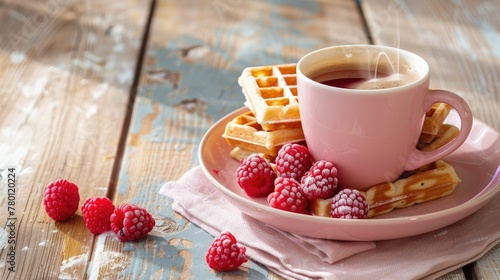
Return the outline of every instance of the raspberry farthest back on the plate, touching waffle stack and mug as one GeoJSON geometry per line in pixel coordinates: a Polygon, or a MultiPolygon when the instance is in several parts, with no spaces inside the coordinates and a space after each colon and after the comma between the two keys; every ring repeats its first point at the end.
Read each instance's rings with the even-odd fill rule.
{"type": "Polygon", "coordinates": [[[312,165],[312,157],[307,147],[291,143],[281,147],[275,161],[278,176],[297,181],[300,181],[312,165]]]}

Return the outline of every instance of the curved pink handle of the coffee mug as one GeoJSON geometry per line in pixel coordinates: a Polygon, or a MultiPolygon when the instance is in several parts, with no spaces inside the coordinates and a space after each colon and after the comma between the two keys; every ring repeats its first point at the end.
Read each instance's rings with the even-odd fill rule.
{"type": "Polygon", "coordinates": [[[407,171],[422,167],[451,154],[465,142],[469,136],[470,130],[472,129],[472,111],[462,97],[456,93],[446,90],[437,89],[429,91],[430,92],[427,94],[425,100],[425,108],[430,110],[434,103],[442,102],[449,104],[458,112],[458,115],[460,116],[460,132],[454,140],[443,147],[436,149],[435,151],[422,152],[415,148],[415,151],[403,167],[404,170],[407,171]]]}

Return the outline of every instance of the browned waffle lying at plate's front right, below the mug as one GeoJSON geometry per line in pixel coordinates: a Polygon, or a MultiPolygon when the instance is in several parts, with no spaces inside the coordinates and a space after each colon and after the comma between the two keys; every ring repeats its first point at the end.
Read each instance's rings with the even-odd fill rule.
{"type": "MultiPolygon", "coordinates": [[[[455,169],[438,160],[413,171],[407,178],[375,185],[365,192],[369,205],[368,218],[410,207],[451,194],[461,180],[455,169]]],[[[332,198],[315,199],[310,205],[314,215],[330,217],[332,198]]]]}

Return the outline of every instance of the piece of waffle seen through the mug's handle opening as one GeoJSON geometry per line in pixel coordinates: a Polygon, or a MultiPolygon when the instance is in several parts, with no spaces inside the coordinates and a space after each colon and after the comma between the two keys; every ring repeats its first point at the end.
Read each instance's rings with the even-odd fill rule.
{"type": "Polygon", "coordinates": [[[450,113],[451,106],[446,103],[435,103],[426,113],[419,142],[430,143],[439,132],[444,119],[450,113]]]}

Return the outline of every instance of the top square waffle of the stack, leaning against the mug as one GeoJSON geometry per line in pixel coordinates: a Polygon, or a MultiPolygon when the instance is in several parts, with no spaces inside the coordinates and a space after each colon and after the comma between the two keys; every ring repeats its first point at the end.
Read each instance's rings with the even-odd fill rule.
{"type": "Polygon", "coordinates": [[[264,130],[300,127],[295,63],[245,68],[238,83],[264,130]]]}

